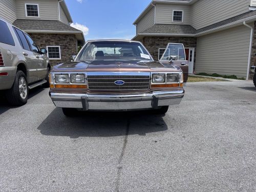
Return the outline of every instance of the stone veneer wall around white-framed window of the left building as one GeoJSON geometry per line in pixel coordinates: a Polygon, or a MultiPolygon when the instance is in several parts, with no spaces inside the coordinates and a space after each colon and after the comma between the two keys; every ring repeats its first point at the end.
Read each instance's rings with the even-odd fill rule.
{"type": "Polygon", "coordinates": [[[68,62],[71,60],[72,55],[77,54],[77,42],[75,35],[43,33],[32,33],[29,35],[36,42],[39,49],[46,48],[46,46],[60,46],[61,60],[50,60],[50,64],[52,66],[62,62],[68,62]]]}

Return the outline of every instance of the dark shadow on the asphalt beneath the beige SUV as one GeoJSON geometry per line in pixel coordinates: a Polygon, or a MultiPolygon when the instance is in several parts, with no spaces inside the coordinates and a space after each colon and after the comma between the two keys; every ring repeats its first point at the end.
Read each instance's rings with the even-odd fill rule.
{"type": "MultiPolygon", "coordinates": [[[[29,90],[29,96],[28,99],[31,99],[32,97],[36,96],[40,92],[44,91],[45,89],[42,88],[41,86],[38,86],[37,88],[34,88],[32,90],[29,90]]],[[[4,91],[0,92],[0,115],[2,113],[5,113],[9,109],[15,109],[19,108],[20,106],[12,106],[11,104],[8,103],[7,99],[5,98],[4,91]]]]}

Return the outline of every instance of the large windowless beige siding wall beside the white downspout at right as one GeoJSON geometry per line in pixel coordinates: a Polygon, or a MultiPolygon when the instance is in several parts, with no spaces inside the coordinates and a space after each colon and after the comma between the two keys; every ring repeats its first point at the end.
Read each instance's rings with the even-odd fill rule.
{"type": "Polygon", "coordinates": [[[245,26],[198,37],[196,72],[246,77],[249,45],[245,26]]]}

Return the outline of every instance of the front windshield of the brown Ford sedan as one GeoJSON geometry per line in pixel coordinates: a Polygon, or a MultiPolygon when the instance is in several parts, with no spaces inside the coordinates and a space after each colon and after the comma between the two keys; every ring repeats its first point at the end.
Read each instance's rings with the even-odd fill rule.
{"type": "Polygon", "coordinates": [[[139,42],[92,41],[88,42],[76,60],[135,59],[151,61],[152,58],[139,42]]]}

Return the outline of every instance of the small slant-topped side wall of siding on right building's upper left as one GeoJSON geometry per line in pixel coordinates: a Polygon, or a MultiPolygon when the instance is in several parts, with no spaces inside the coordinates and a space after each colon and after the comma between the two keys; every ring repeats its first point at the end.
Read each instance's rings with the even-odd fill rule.
{"type": "Polygon", "coordinates": [[[140,33],[145,29],[150,28],[154,24],[155,24],[155,8],[152,8],[137,24],[137,27],[136,27],[137,33],[140,33]]]}

